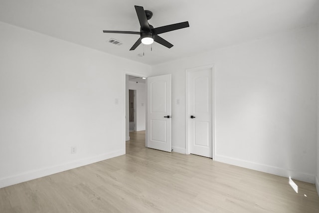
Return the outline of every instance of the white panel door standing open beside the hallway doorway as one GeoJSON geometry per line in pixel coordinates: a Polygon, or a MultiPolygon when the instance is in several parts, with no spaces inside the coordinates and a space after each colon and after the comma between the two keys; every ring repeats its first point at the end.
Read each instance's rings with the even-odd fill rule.
{"type": "Polygon", "coordinates": [[[149,148],[171,152],[171,75],[148,78],[149,148]]]}

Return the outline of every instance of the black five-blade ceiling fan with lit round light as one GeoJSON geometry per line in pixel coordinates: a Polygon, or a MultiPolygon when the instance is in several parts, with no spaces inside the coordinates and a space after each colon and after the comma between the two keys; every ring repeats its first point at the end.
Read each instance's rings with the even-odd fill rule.
{"type": "Polygon", "coordinates": [[[143,44],[152,44],[154,41],[164,45],[168,48],[171,48],[173,45],[160,37],[158,34],[173,31],[176,29],[181,29],[185,27],[189,27],[188,21],[169,24],[165,26],[160,26],[154,28],[151,24],[149,24],[148,20],[150,20],[153,16],[153,12],[150,10],[144,10],[143,6],[135,5],[135,10],[138,15],[140,21],[140,31],[114,31],[114,30],[103,30],[106,33],[124,33],[124,34],[139,34],[140,38],[135,42],[135,44],[131,47],[130,50],[135,50],[141,43],[143,44]]]}

